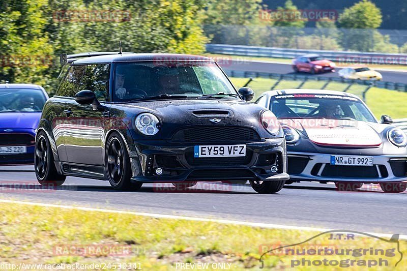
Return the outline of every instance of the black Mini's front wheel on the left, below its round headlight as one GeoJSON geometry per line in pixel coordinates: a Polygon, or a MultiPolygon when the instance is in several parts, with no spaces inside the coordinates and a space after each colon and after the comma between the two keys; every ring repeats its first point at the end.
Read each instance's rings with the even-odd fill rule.
{"type": "Polygon", "coordinates": [[[131,183],[130,158],[119,133],[113,132],[106,141],[105,168],[110,186],[115,190],[138,190],[142,183],[131,183]]]}

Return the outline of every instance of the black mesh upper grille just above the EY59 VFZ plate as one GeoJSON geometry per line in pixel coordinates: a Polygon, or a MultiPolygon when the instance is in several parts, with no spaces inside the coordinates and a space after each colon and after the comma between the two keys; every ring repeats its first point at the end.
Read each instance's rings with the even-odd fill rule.
{"type": "Polygon", "coordinates": [[[186,128],[178,131],[173,137],[174,142],[255,142],[260,137],[253,129],[246,127],[204,126],[186,128]]]}

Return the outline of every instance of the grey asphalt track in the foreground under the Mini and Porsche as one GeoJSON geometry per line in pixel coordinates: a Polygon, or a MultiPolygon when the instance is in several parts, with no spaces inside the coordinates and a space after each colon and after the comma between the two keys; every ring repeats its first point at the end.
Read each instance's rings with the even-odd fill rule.
{"type": "Polygon", "coordinates": [[[44,189],[33,166],[0,167],[1,199],[389,234],[407,234],[406,196],[370,185],[340,192],[333,184],[318,183],[288,185],[272,195],[219,182],[183,191],[150,184],[137,192],[121,192],[107,181],[77,177],[68,177],[60,188],[44,189]]]}

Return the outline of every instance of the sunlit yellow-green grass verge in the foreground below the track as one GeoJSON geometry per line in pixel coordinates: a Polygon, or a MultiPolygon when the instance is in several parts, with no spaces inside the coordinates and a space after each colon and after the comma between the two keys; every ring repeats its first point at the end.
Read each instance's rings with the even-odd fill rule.
{"type": "MultiPolygon", "coordinates": [[[[159,196],[159,195],[157,195],[159,196]]],[[[272,196],[272,195],[271,195],[272,196]]],[[[177,263],[230,263],[230,270],[259,269],[259,258],[270,248],[303,242],[316,232],[265,229],[215,222],[156,219],[131,214],[89,212],[84,210],[1,203],[0,259],[13,264],[57,263],[139,263],[144,270],[174,270],[177,263]],[[130,246],[129,255],[57,255],[61,246],[130,246]]],[[[381,248],[383,240],[355,237],[355,240],[330,240],[329,234],[312,239],[303,247],[326,244],[337,248],[381,248]]],[[[394,247],[394,244],[391,245],[394,247]]],[[[407,253],[407,242],[400,250],[407,253]]],[[[302,256],[266,255],[265,270],[289,267],[291,259],[302,256]]],[[[315,256],[307,256],[315,259],[315,256]]],[[[319,256],[321,257],[321,256],[319,256]]],[[[327,256],[328,257],[328,256],[327,256]]],[[[329,256],[343,259],[345,256],[329,256]]],[[[390,259],[395,269],[394,261],[390,259]]],[[[405,266],[406,259],[398,269],[405,266]]],[[[109,268],[107,268],[109,269],[109,268]]],[[[110,269],[113,269],[111,267],[110,269]]],[[[212,268],[210,267],[209,270],[212,268]]],[[[302,267],[302,270],[315,268],[302,267]]],[[[332,267],[319,268],[331,270],[332,267]]],[[[336,268],[340,269],[341,268],[336,268]]]]}

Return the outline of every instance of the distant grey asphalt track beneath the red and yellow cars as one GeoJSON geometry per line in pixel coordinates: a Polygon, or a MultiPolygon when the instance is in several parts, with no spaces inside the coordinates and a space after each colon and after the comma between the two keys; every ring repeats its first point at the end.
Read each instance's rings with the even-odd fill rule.
{"type": "MultiPolygon", "coordinates": [[[[225,62],[220,66],[225,70],[233,71],[246,71],[246,72],[264,72],[264,73],[280,73],[280,74],[294,74],[293,68],[290,64],[268,63],[268,62],[249,62],[249,61],[231,61],[225,62]]],[[[309,76],[324,76],[324,77],[339,77],[338,71],[340,68],[336,68],[335,72],[318,73],[312,75],[310,73],[300,73],[309,76]]],[[[379,71],[383,75],[383,81],[404,83],[407,84],[407,73],[396,71],[379,71]]]]}

